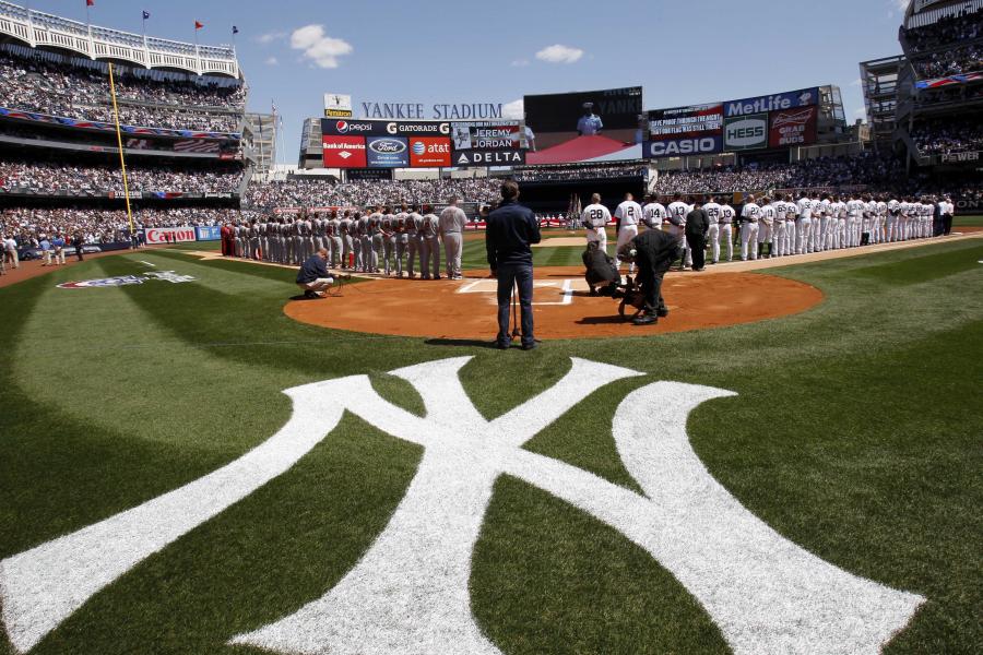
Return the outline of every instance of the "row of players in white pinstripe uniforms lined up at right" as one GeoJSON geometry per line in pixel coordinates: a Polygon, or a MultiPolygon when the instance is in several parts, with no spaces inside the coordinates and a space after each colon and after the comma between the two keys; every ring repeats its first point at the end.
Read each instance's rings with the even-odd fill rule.
{"type": "MultiPolygon", "coordinates": [[[[899,201],[887,196],[822,193],[818,198],[802,195],[795,201],[792,195],[786,200],[782,193],[775,193],[773,198],[762,198],[759,204],[754,195],[748,195],[738,215],[733,206],[718,203],[712,195],[707,202],[690,204],[683,200],[682,193],[676,193],[668,206],[649,196],[641,206],[627,193],[614,214],[618,235],[616,251],[638,235],[638,226],[643,223],[675,235],[684,249],[683,267],[691,266],[694,252],[686,239],[686,218],[697,209],[702,209],[709,219],[706,240],[714,264],[720,261],[722,248],[726,249],[727,261],[733,261],[735,242],[741,243],[741,259],[746,261],[758,259],[759,252],[762,258],[786,257],[940,236],[949,234],[955,214],[949,198],[899,201]]],[[[607,247],[604,226],[611,218],[595,193],[583,210],[581,223],[587,228],[588,241],[599,241],[602,250],[607,247]]],[[[702,258],[698,255],[697,260],[702,258]]]]}

